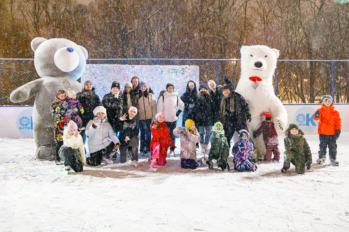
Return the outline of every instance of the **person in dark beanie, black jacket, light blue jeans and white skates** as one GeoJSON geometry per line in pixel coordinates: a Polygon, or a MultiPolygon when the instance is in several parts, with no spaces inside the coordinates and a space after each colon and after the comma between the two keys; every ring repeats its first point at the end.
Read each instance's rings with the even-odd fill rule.
{"type": "Polygon", "coordinates": [[[201,152],[209,153],[208,143],[213,122],[213,103],[206,85],[199,86],[198,113],[196,114],[196,126],[199,127],[201,152]],[[205,137],[205,138],[204,138],[205,137]]]}

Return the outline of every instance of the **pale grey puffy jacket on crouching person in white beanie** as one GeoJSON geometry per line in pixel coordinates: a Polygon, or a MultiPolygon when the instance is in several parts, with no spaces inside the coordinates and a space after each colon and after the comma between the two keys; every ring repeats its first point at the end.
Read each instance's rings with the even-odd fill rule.
{"type": "Polygon", "coordinates": [[[90,120],[87,123],[85,134],[88,136],[87,144],[90,153],[104,149],[111,142],[120,145],[119,139],[116,137],[113,128],[111,127],[110,123],[105,120],[105,118],[103,121],[97,117],[90,120]],[[97,128],[94,128],[92,125],[95,120],[98,123],[97,128]]]}

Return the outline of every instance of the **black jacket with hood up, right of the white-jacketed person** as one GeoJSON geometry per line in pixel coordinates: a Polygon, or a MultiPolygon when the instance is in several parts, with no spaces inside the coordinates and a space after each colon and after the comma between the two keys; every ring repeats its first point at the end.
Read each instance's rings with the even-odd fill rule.
{"type": "Polygon", "coordinates": [[[183,112],[183,118],[182,118],[182,127],[185,126],[185,121],[187,119],[191,119],[193,121],[196,120],[196,113],[198,108],[198,90],[196,90],[196,83],[194,81],[188,81],[187,83],[187,90],[185,93],[180,97],[180,99],[184,102],[184,112],[183,112]],[[194,89],[190,90],[189,88],[189,82],[194,83],[194,89]],[[191,107],[193,106],[193,107],[191,107]]]}

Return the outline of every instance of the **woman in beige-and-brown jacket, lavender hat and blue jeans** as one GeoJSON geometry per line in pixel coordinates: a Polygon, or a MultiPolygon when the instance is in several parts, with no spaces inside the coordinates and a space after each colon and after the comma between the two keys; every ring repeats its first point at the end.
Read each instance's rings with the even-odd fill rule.
{"type": "Polygon", "coordinates": [[[154,94],[149,93],[148,82],[141,81],[138,94],[139,128],[141,130],[141,155],[150,156],[151,130],[150,124],[156,115],[156,100],[154,94]]]}

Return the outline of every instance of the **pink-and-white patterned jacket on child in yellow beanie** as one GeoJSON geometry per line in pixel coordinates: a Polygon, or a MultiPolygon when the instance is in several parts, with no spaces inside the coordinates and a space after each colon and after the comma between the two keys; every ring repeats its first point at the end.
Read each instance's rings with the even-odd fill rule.
{"type": "Polygon", "coordinates": [[[180,158],[196,159],[196,143],[200,141],[199,132],[195,129],[195,134],[191,134],[186,127],[173,129],[173,134],[180,137],[180,158]]]}

